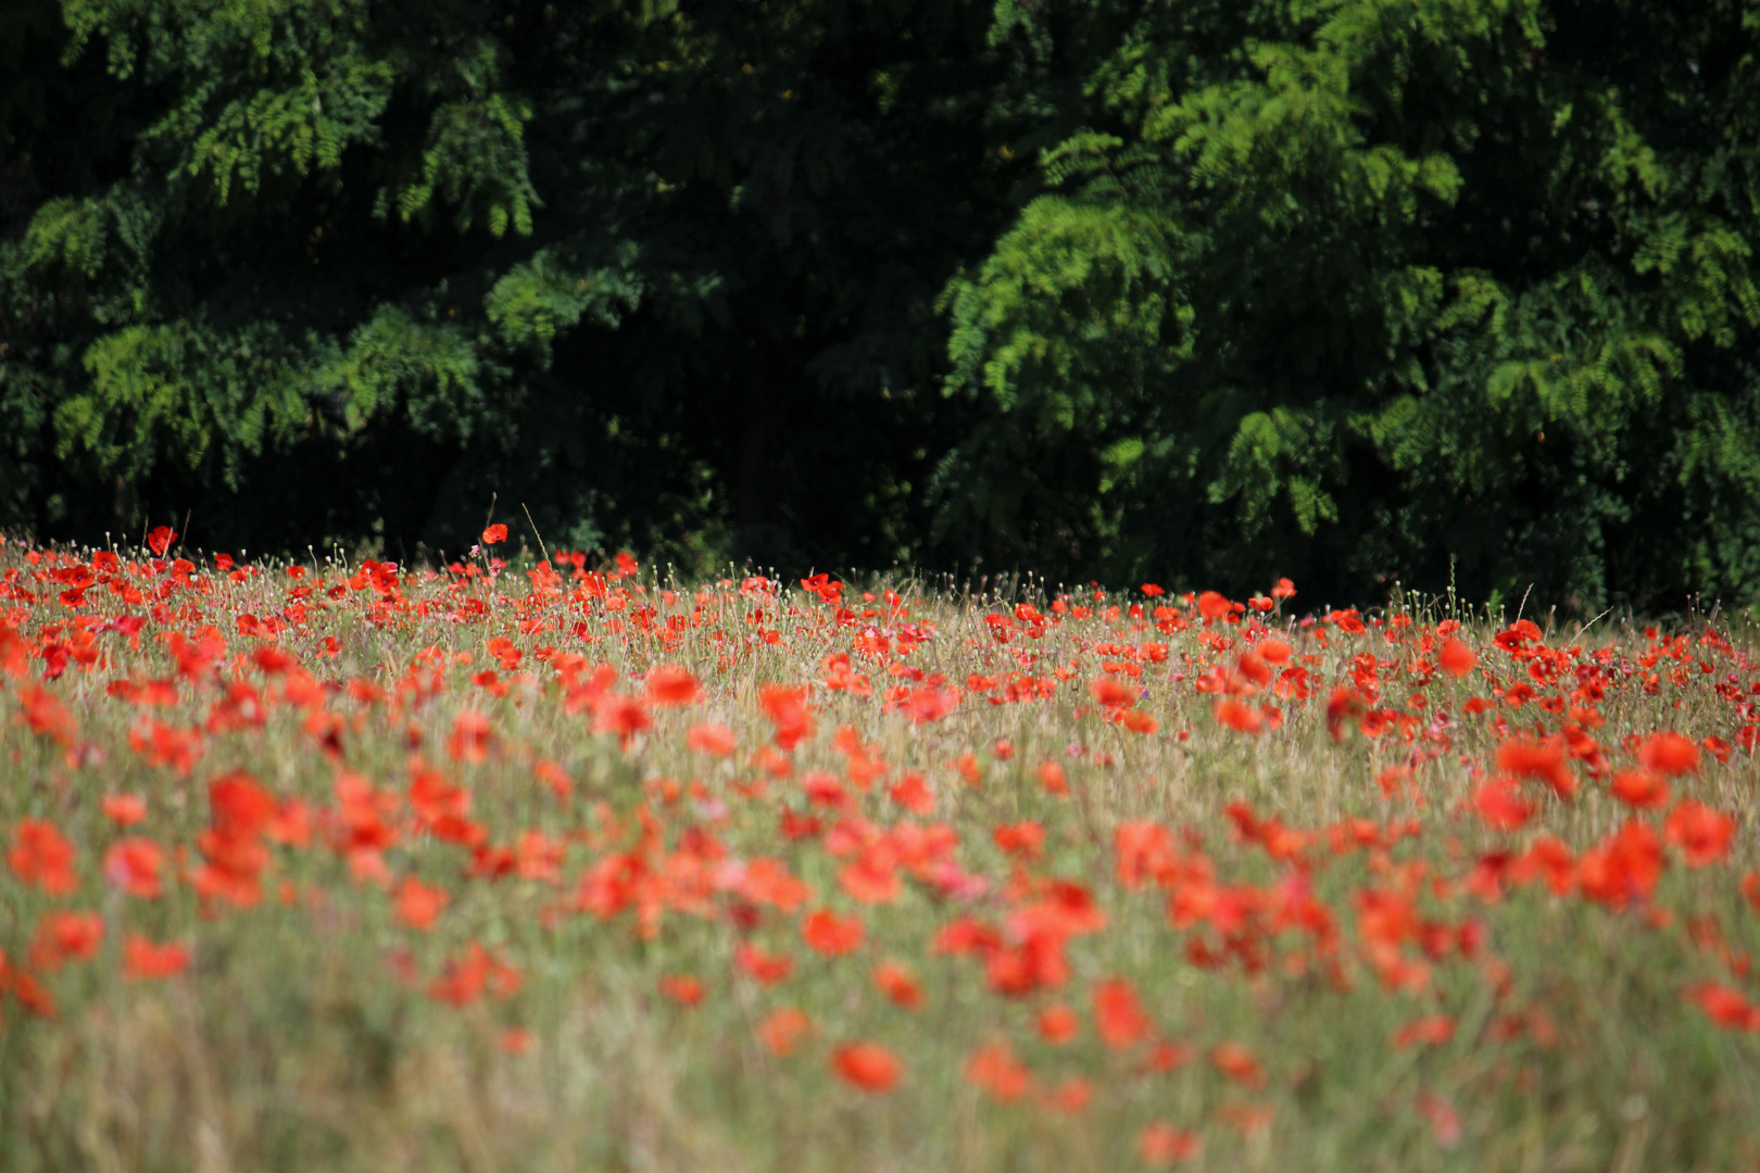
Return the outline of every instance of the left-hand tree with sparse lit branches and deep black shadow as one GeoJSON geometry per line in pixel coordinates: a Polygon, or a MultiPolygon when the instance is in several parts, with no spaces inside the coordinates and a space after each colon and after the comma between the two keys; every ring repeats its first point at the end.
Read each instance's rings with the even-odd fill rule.
{"type": "Polygon", "coordinates": [[[500,492],[563,543],[913,552],[966,415],[933,299],[1026,171],[986,5],[7,21],[0,522],[456,549],[500,492]]]}

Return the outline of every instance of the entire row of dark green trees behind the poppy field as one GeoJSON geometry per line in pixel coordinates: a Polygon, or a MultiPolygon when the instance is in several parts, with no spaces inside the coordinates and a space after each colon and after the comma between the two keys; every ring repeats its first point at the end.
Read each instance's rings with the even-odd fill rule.
{"type": "Polygon", "coordinates": [[[9,0],[0,528],[1760,596],[1739,0],[9,0]]]}

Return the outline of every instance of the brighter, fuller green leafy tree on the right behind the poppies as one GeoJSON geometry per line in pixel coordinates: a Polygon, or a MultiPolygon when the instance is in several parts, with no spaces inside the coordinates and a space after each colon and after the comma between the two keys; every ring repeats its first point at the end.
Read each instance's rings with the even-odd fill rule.
{"type": "Polygon", "coordinates": [[[940,470],[942,540],[1336,596],[1753,596],[1756,32],[1144,9],[1054,190],[950,288],[947,385],[994,422],[940,470]],[[1063,471],[1000,491],[1017,463],[1063,471]]]}

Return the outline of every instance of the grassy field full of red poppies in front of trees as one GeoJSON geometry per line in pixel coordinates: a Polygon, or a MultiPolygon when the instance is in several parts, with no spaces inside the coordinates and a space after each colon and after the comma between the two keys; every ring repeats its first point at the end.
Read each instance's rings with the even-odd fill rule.
{"type": "Polygon", "coordinates": [[[7,542],[0,1169],[1760,1168],[1751,628],[1318,603],[7,542]]]}

